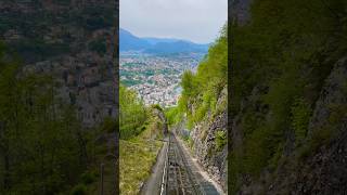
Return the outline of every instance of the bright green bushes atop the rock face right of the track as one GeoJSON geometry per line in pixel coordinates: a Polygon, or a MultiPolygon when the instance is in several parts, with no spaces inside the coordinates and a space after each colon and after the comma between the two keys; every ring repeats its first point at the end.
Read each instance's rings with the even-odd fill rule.
{"type": "Polygon", "coordinates": [[[218,115],[226,109],[217,104],[221,91],[227,88],[228,78],[228,32],[227,26],[221,30],[220,37],[209,48],[208,54],[197,67],[197,73],[188,70],[182,76],[182,94],[178,107],[167,110],[169,123],[180,121],[187,116],[188,129],[206,119],[218,115]]]}

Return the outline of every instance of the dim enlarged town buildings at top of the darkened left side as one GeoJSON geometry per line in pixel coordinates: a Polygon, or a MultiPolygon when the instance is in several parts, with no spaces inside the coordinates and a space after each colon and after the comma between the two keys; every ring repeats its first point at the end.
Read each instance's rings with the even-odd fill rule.
{"type": "Polygon", "coordinates": [[[115,1],[1,1],[0,35],[25,70],[56,80],[86,127],[116,117],[115,1]]]}

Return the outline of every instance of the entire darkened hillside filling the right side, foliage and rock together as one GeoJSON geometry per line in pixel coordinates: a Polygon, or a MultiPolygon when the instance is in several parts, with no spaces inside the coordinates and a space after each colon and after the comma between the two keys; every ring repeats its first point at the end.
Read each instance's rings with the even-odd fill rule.
{"type": "Polygon", "coordinates": [[[246,23],[230,22],[233,194],[340,193],[331,190],[345,179],[326,160],[313,167],[346,130],[346,9],[344,0],[254,0],[246,23]],[[331,186],[319,184],[332,174],[331,186]]]}

